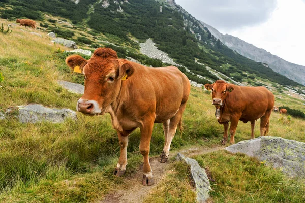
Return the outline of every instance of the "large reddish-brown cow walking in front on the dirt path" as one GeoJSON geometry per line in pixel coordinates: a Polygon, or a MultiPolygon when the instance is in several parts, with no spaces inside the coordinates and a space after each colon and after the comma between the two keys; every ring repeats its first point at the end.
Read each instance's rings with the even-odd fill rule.
{"type": "Polygon", "coordinates": [[[190,94],[190,82],[177,67],[154,69],[125,59],[118,59],[110,48],[98,48],[92,58],[79,55],[66,59],[74,70],[85,76],[85,92],[76,109],[85,115],[111,115],[120,145],[120,157],[114,175],[122,176],[127,165],[128,136],[140,128],[140,152],[144,157],[143,185],[153,184],[149,164],[149,145],[154,123],[163,123],[165,143],[159,161],[167,161],[177,126],[182,125],[190,94]]]}

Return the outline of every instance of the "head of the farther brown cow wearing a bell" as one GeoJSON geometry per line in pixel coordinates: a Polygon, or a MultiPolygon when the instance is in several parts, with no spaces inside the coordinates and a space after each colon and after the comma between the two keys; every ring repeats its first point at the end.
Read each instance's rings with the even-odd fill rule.
{"type": "Polygon", "coordinates": [[[207,90],[212,90],[212,105],[219,109],[223,105],[223,101],[227,95],[234,91],[234,87],[223,80],[217,80],[214,84],[205,84],[207,90]]]}

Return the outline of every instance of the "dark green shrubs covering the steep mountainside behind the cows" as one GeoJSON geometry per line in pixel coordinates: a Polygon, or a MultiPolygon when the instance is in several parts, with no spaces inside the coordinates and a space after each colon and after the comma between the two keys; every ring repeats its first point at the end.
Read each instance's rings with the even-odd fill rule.
{"type": "MultiPolygon", "coordinates": [[[[195,63],[195,59],[238,82],[245,81],[247,76],[249,79],[254,79],[254,75],[256,75],[261,79],[268,79],[282,85],[299,85],[266,68],[261,63],[235,53],[216,40],[207,28],[202,27],[191,15],[182,14],[164,3],[161,4],[154,0],[131,0],[129,3],[118,5],[113,1],[108,1],[110,5],[103,8],[102,2],[94,4],[96,2],[97,0],[82,0],[76,5],[70,0],[10,0],[13,9],[3,10],[1,17],[43,19],[41,12],[47,12],[69,18],[73,24],[81,24],[84,19],[87,19],[87,24],[94,29],[95,33],[102,32],[116,36],[121,44],[133,45],[134,41],[130,39],[130,36],[140,41],[153,38],[154,42],[158,44],[158,48],[167,52],[177,63],[185,65],[193,73],[211,80],[216,80],[217,77],[209,73],[204,65],[195,63]],[[162,12],[160,12],[160,6],[163,6],[162,12]],[[94,7],[94,12],[88,12],[91,7],[94,7]],[[123,9],[123,12],[117,11],[119,7],[123,9]],[[184,24],[186,22],[184,18],[187,25],[184,24]]],[[[0,5],[6,4],[0,3],[0,5]]],[[[52,27],[50,30],[56,31],[52,27]]],[[[56,33],[59,37],[67,39],[72,39],[74,36],[72,31],[67,30],[58,29],[56,33]]],[[[77,40],[91,44],[91,40],[84,37],[78,37],[77,40]]],[[[96,48],[99,47],[99,44],[92,43],[91,46],[96,48]]],[[[203,84],[208,82],[193,75],[187,75],[193,81],[203,84]]]]}

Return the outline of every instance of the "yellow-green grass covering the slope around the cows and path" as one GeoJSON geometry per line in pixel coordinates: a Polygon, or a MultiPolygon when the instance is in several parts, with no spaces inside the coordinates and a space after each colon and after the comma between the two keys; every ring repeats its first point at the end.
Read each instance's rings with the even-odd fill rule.
{"type": "MultiPolygon", "coordinates": [[[[0,20],[0,23],[7,25],[12,22],[0,20]]],[[[62,53],[64,47],[51,43],[45,37],[46,32],[36,30],[44,36],[41,38],[31,35],[31,31],[32,29],[16,27],[9,35],[0,33],[0,72],[5,77],[0,82],[0,111],[28,103],[75,110],[81,95],[61,88],[56,80],[81,83],[82,76],[71,73],[66,67],[66,54],[62,53]]],[[[288,101],[294,108],[303,108],[301,100],[284,94],[281,94],[281,100],[276,100],[276,104],[280,106],[288,101]]],[[[210,103],[210,94],[203,93],[200,88],[192,88],[184,114],[185,131],[181,135],[178,132],[173,139],[172,153],[194,145],[211,147],[219,144],[223,127],[216,121],[215,109],[210,103]]],[[[0,201],[93,202],[103,199],[111,188],[132,187],[126,184],[126,176],[117,178],[112,175],[119,156],[119,145],[110,116],[77,116],[77,121],[68,119],[59,124],[21,124],[13,115],[8,120],[0,120],[0,201]]],[[[249,123],[240,122],[236,142],[250,139],[250,131],[249,123]]],[[[258,135],[259,125],[256,132],[258,135]]],[[[304,120],[271,115],[269,135],[305,142],[304,133],[304,120]]],[[[139,130],[130,137],[127,176],[134,174],[142,163],[139,137],[139,130]]],[[[155,124],[150,157],[162,152],[163,143],[162,125],[155,124]]],[[[244,202],[251,195],[255,201],[273,197],[282,202],[289,197],[293,197],[295,202],[304,200],[301,194],[305,193],[305,189],[301,180],[289,180],[280,172],[272,171],[253,159],[225,152],[198,156],[196,159],[202,166],[210,168],[211,176],[216,180],[211,194],[215,202],[227,201],[226,197],[232,195],[232,188],[238,189],[238,193],[230,198],[232,202],[240,200],[238,195],[245,199],[244,202]],[[246,173],[247,165],[256,173],[270,177],[264,179],[263,176],[258,176],[256,179],[260,187],[263,187],[256,194],[261,195],[253,195],[258,189],[254,186],[247,187],[251,183],[240,185],[232,182],[227,185],[228,176],[233,176],[229,170],[240,166],[238,173],[233,173],[234,179],[243,175],[243,171],[246,173]],[[222,173],[219,168],[226,170],[222,173]],[[283,180],[282,184],[277,185],[280,180],[283,180]],[[277,195],[277,191],[286,196],[277,195]]],[[[187,167],[182,163],[170,164],[165,179],[145,202],[162,202],[163,199],[168,202],[181,199],[193,202],[192,184],[188,175],[187,167]]],[[[249,181],[256,178],[251,174],[247,177],[249,181]]]]}

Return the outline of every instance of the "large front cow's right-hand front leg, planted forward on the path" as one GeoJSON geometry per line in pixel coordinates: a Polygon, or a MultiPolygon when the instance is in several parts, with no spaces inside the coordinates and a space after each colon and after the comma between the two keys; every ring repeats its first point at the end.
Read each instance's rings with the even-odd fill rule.
{"type": "Polygon", "coordinates": [[[140,152],[144,158],[142,184],[150,186],[154,184],[153,171],[149,163],[150,139],[153,134],[154,121],[143,125],[141,128],[140,152]]]}

